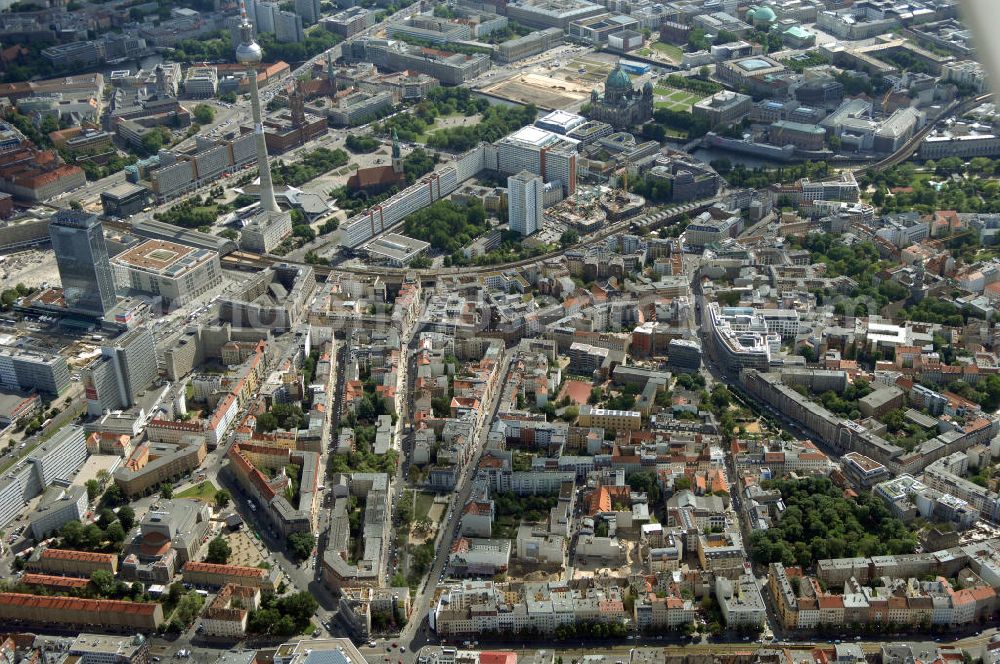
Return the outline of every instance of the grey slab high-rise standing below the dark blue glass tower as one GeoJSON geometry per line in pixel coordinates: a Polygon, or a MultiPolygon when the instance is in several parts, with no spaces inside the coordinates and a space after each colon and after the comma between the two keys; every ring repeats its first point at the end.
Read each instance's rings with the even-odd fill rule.
{"type": "Polygon", "coordinates": [[[147,327],[128,330],[102,347],[101,357],[84,369],[87,411],[97,416],[128,408],[158,374],[152,331],[147,327]]]}

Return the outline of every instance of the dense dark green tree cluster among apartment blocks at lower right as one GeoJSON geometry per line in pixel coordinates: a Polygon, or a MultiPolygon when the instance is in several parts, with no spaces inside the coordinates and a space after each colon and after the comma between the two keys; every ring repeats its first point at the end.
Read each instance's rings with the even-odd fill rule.
{"type": "Polygon", "coordinates": [[[913,533],[871,494],[849,500],[826,477],[765,487],[781,492],[785,512],[773,527],[751,534],[755,562],[811,567],[824,558],[912,553],[916,547],[913,533]]]}

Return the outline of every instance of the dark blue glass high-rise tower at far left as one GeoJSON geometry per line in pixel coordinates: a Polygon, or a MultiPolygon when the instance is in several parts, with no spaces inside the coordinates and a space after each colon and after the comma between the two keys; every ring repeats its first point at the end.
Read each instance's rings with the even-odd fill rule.
{"type": "Polygon", "coordinates": [[[92,316],[104,316],[115,306],[118,297],[108,247],[104,243],[104,228],[97,215],[59,210],[49,222],[49,236],[66,307],[92,316]]]}

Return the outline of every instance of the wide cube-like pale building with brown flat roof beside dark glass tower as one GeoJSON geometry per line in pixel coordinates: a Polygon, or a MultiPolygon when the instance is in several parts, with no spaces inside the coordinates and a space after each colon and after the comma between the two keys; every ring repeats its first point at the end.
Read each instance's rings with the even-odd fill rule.
{"type": "Polygon", "coordinates": [[[183,306],[222,283],[217,252],[166,240],[147,240],[111,265],[119,289],[158,295],[165,307],[183,306]]]}

